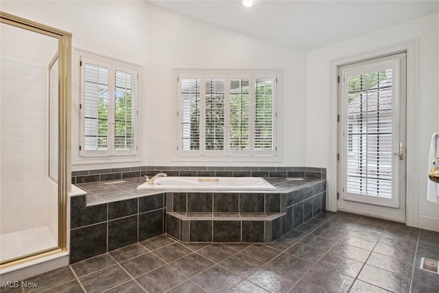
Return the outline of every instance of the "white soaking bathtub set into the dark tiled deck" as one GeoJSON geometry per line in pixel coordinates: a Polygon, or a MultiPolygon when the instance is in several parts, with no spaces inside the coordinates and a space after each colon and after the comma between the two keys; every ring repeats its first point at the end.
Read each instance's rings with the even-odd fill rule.
{"type": "Polygon", "coordinates": [[[260,177],[168,176],[156,178],[154,185],[143,183],[137,189],[275,191],[276,187],[260,177]]]}

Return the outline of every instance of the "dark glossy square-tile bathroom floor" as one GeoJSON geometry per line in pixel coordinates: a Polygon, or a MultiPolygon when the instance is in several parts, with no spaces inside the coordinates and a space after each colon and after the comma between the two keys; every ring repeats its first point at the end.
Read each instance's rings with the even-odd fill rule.
{"type": "Polygon", "coordinates": [[[1,292],[438,292],[439,233],[320,213],[272,243],[182,243],[161,235],[1,292]]]}

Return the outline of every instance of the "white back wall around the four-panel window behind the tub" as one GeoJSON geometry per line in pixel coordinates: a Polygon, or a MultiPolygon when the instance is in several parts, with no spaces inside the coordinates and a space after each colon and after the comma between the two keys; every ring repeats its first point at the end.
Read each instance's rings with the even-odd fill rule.
{"type": "Polygon", "coordinates": [[[176,139],[174,69],[283,69],[283,162],[212,162],[198,165],[303,165],[305,163],[306,55],[222,30],[179,14],[151,7],[146,36],[149,43],[147,78],[148,165],[195,165],[172,161],[176,139]]]}

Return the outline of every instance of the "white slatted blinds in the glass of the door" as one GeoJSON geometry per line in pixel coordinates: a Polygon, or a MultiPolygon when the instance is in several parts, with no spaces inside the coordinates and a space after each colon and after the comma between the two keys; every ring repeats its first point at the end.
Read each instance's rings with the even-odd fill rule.
{"type": "Polygon", "coordinates": [[[392,197],[392,80],[392,69],[348,78],[348,192],[392,197]]]}

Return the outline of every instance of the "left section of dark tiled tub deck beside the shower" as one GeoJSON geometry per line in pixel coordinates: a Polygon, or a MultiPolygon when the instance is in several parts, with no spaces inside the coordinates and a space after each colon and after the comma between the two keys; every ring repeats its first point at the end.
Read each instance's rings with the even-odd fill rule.
{"type": "Polygon", "coordinates": [[[88,194],[71,197],[71,263],[165,233],[165,194],[138,193],[137,185],[80,185],[88,194]]]}

